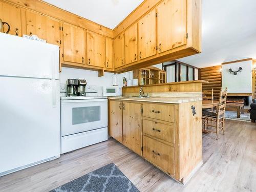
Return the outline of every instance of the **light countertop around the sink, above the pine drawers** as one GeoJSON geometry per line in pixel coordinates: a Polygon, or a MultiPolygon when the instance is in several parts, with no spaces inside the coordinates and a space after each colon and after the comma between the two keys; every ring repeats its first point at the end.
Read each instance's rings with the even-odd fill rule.
{"type": "Polygon", "coordinates": [[[141,101],[141,102],[156,102],[156,103],[186,103],[186,102],[194,102],[201,101],[202,98],[188,98],[188,97],[129,97],[129,96],[115,96],[108,97],[111,100],[126,100],[126,101],[141,101]]]}

